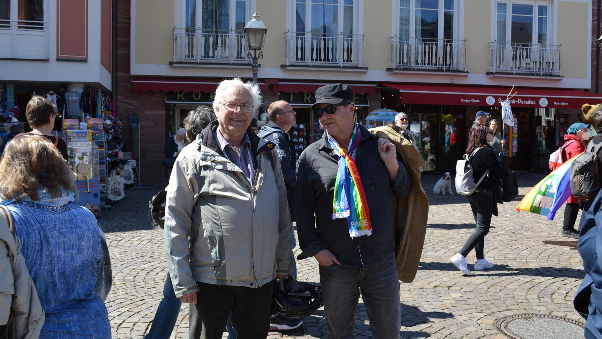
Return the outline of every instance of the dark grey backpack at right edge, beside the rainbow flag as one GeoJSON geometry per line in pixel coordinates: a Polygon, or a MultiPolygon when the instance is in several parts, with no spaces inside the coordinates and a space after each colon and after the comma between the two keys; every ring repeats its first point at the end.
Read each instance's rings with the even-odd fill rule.
{"type": "Polygon", "coordinates": [[[571,163],[569,182],[573,196],[581,201],[591,201],[600,191],[598,178],[598,152],[602,142],[592,145],[589,151],[579,154],[571,163]]]}

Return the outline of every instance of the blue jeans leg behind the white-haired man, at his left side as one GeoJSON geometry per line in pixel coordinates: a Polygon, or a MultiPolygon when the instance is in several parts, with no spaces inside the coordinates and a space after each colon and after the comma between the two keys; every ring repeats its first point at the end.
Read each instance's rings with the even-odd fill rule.
{"type": "Polygon", "coordinates": [[[169,339],[176,325],[182,302],[173,292],[172,278],[167,273],[163,287],[163,300],[159,303],[157,313],[152,321],[151,329],[144,339],[169,339]]]}

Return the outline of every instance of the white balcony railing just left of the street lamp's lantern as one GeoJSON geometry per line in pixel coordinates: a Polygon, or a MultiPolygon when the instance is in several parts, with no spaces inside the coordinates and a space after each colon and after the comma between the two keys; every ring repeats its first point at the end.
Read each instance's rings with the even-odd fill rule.
{"type": "Polygon", "coordinates": [[[243,31],[173,29],[173,62],[249,63],[243,31]]]}

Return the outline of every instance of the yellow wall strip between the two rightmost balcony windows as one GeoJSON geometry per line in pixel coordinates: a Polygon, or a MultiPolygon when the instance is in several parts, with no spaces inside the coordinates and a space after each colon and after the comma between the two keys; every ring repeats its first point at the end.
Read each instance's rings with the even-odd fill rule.
{"type": "Polygon", "coordinates": [[[485,74],[489,70],[489,41],[491,39],[491,2],[464,1],[464,38],[466,65],[471,74],[485,74]]]}

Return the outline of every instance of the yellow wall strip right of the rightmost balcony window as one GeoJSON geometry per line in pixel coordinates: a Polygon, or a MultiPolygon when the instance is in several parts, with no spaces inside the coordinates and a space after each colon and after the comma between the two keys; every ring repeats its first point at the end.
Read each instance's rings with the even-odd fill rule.
{"type": "Polygon", "coordinates": [[[588,4],[558,2],[558,40],[562,44],[560,67],[566,78],[587,78],[588,65],[588,4]]]}

